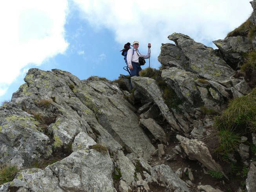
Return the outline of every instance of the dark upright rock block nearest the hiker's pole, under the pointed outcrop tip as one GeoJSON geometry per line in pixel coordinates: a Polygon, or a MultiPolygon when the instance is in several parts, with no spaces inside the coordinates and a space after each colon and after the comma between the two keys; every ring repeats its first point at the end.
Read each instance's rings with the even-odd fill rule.
{"type": "Polygon", "coordinates": [[[161,53],[158,56],[158,61],[162,66],[177,67],[190,71],[189,61],[182,50],[172,43],[166,43],[161,46],[161,53]]]}

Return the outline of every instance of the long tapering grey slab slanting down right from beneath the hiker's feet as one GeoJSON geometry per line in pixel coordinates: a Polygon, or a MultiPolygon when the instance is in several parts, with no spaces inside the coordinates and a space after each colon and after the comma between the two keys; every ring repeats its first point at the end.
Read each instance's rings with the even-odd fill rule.
{"type": "Polygon", "coordinates": [[[156,84],[155,80],[147,77],[133,76],[131,78],[133,86],[147,96],[151,101],[154,101],[158,105],[162,115],[168,121],[168,123],[174,127],[174,129],[182,131],[182,126],[176,122],[172,112],[168,109],[167,105],[163,101],[163,92],[156,84]]]}

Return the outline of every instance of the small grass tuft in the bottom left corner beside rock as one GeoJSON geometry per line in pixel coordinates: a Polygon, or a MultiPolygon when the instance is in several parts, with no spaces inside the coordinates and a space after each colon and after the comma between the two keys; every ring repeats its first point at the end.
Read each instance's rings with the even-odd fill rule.
{"type": "Polygon", "coordinates": [[[16,166],[5,165],[0,167],[0,185],[12,181],[18,171],[19,170],[16,166]]]}

